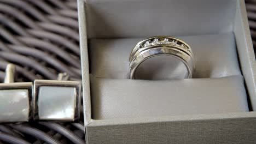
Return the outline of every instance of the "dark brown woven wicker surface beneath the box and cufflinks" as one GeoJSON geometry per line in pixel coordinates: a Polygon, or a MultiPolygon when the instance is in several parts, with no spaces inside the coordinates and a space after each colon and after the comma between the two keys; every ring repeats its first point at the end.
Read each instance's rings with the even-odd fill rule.
{"type": "MultiPolygon", "coordinates": [[[[256,0],[247,1],[256,45],[256,0]]],[[[16,81],[56,79],[66,72],[81,79],[77,3],[75,0],[0,0],[0,80],[8,63],[16,64],[16,81]]],[[[85,143],[80,123],[0,125],[1,143],[85,143]]]]}

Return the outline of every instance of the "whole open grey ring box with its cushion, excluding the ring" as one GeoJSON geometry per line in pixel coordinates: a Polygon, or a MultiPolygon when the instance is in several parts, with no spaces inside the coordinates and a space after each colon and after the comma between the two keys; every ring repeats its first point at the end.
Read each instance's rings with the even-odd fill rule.
{"type": "Polygon", "coordinates": [[[256,143],[243,1],[78,0],[78,16],[88,144],[256,143]],[[127,79],[132,47],[155,35],[190,44],[194,79],[127,79]]]}

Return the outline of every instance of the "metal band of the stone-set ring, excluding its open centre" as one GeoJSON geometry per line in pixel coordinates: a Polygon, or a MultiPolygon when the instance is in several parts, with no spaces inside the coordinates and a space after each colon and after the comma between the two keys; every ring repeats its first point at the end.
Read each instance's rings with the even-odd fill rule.
{"type": "Polygon", "coordinates": [[[177,38],[159,36],[139,41],[132,49],[129,57],[129,79],[136,79],[136,70],[144,61],[155,56],[163,55],[172,56],[181,61],[187,68],[187,76],[184,78],[189,79],[192,77],[194,56],[190,46],[177,38]]]}

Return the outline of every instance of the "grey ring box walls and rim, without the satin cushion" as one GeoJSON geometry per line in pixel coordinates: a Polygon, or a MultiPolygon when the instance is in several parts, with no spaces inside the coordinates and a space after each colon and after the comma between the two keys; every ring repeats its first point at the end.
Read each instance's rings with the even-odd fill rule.
{"type": "MultiPolygon", "coordinates": [[[[253,112],[256,109],[254,78],[256,66],[245,2],[242,0],[78,0],[78,17],[87,143],[256,142],[256,113],[253,112]],[[153,25],[155,23],[158,25],[153,25]],[[89,65],[88,39],[142,38],[170,34],[222,35],[222,33],[234,35],[238,61],[245,79],[248,105],[251,107],[250,112],[95,118],[99,117],[96,116],[95,111],[100,108],[96,110],[97,106],[91,104],[95,100],[93,98],[95,93],[90,92],[90,73],[95,70],[92,65],[89,65]]],[[[94,65],[94,67],[101,67],[101,65],[94,65]]],[[[232,75],[241,75],[241,73],[232,75]]],[[[102,76],[100,73],[97,74],[98,77],[102,76]]],[[[222,94],[225,95],[225,92],[222,94]]],[[[125,94],[118,93],[118,95],[125,94]]],[[[143,102],[141,101],[141,103],[143,102]]],[[[229,105],[228,101],[227,105],[229,105]]],[[[143,107],[141,108],[143,109],[143,107]]],[[[159,111],[159,113],[161,112],[159,111]]]]}

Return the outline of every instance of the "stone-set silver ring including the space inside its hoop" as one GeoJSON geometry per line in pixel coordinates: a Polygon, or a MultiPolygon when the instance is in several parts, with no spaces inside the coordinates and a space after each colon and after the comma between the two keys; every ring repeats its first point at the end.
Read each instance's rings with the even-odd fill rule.
{"type": "Polygon", "coordinates": [[[151,37],[139,41],[132,49],[129,79],[190,79],[193,59],[193,52],[184,41],[168,36],[151,37]]]}

